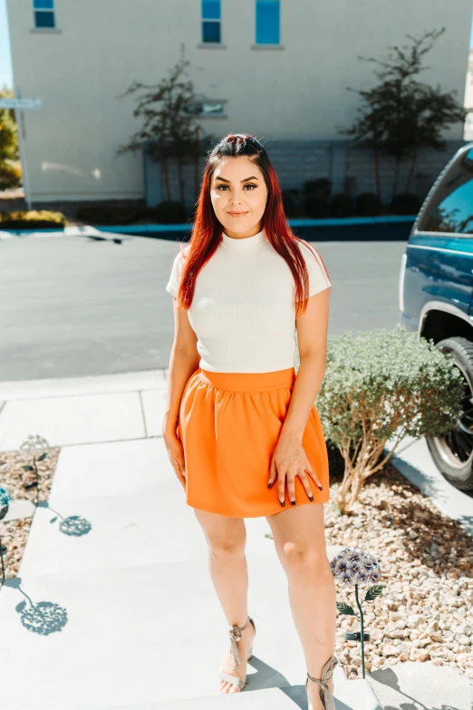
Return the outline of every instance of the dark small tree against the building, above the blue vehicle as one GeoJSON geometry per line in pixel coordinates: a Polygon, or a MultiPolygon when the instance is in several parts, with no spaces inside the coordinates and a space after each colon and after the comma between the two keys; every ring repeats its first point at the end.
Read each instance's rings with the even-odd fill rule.
{"type": "Polygon", "coordinates": [[[442,27],[439,31],[425,31],[420,37],[408,34],[411,44],[401,48],[390,46],[391,53],[384,60],[358,57],[381,65],[382,69],[374,72],[380,83],[369,91],[347,87],[362,97],[362,106],[352,126],[339,132],[351,135],[355,142],[374,151],[375,182],[380,199],[380,151],[395,158],[392,196],[398,188],[401,160],[410,156],[405,188],[409,192],[420,148],[443,150],[446,141],[441,138],[442,131],[452,123],[465,121],[468,110],[454,96],[456,91],[445,92],[439,84],[434,88],[414,79],[429,68],[422,66],[422,58],[444,32],[445,27],[442,27]]]}

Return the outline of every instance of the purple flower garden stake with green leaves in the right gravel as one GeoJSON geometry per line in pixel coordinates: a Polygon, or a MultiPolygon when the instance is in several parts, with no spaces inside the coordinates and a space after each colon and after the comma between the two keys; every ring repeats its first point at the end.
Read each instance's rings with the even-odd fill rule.
{"type": "Polygon", "coordinates": [[[365,552],[364,550],[360,550],[360,548],[355,548],[352,545],[349,545],[347,548],[339,552],[338,555],[333,558],[330,566],[335,579],[342,582],[344,587],[354,587],[355,590],[355,599],[356,604],[360,609],[360,616],[355,614],[353,608],[345,602],[337,601],[337,609],[341,614],[347,614],[350,617],[357,617],[360,619],[361,630],[345,633],[345,640],[362,642],[362,676],[364,678],[364,642],[370,640],[370,635],[364,633],[362,604],[364,601],[372,601],[376,597],[379,597],[382,589],[386,585],[374,584],[373,587],[368,589],[365,598],[360,603],[360,598],[358,597],[358,586],[365,587],[367,584],[378,582],[381,579],[381,569],[378,564],[378,560],[374,557],[374,555],[371,555],[369,552],[365,552]]]}

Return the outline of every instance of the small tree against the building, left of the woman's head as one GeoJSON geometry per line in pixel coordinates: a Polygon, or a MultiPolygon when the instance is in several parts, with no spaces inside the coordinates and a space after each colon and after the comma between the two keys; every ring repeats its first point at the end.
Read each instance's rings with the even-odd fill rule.
{"type": "Polygon", "coordinates": [[[119,98],[141,92],[133,116],[143,119],[139,131],[133,133],[130,142],[121,146],[117,154],[145,150],[151,160],[161,162],[164,188],[167,199],[172,199],[169,183],[169,160],[176,160],[179,176],[179,199],[184,202],[183,166],[194,161],[196,173],[199,158],[208,150],[212,141],[209,135],[198,132],[197,117],[189,110],[197,102],[194,84],[188,79],[189,62],[181,58],[169,70],[168,76],[158,84],[133,82],[119,98]]]}

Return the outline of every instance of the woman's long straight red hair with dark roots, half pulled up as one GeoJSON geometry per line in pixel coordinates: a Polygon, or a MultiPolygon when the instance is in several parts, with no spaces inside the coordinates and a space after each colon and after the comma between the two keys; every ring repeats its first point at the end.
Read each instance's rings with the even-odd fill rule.
{"type": "MultiPolygon", "coordinates": [[[[292,271],[295,284],[296,316],[302,315],[307,307],[309,295],[309,274],[299,247],[299,242],[304,239],[297,237],[289,227],[285,217],[281,188],[265,148],[248,133],[228,134],[208,155],[196,203],[194,227],[189,240],[188,253],[179,279],[177,305],[189,308],[192,304],[198,272],[216,251],[224,231],[210,199],[210,185],[214,170],[222,158],[236,158],[240,155],[246,155],[252,160],[265,178],[267,201],[263,215],[263,229],[265,229],[266,236],[275,251],[285,259],[292,271]]],[[[323,258],[312,245],[306,241],[304,243],[314,251],[328,277],[328,270],[323,258]]],[[[329,289],[331,291],[332,287],[330,286],[329,289]]]]}

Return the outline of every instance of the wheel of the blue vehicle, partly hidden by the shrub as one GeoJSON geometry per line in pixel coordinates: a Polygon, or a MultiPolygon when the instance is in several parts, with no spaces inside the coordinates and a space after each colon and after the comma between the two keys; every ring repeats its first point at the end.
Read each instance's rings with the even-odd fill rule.
{"type": "Polygon", "coordinates": [[[451,353],[465,380],[463,413],[457,426],[438,437],[426,436],[430,455],[444,478],[460,491],[473,490],[473,343],[466,337],[440,340],[436,347],[451,353]]]}

